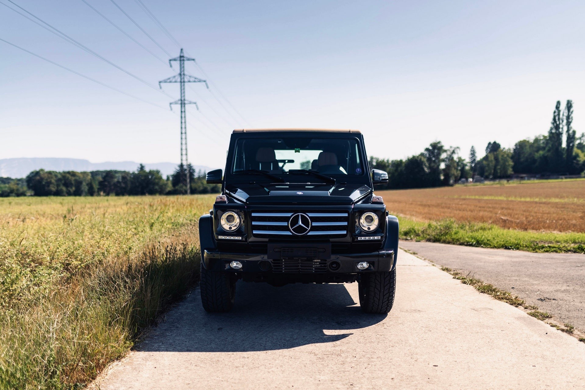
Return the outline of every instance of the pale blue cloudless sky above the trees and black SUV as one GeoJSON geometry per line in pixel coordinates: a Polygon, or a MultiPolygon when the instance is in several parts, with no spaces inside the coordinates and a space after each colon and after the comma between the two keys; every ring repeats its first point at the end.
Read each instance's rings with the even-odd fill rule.
{"type": "MultiPolygon", "coordinates": [[[[155,86],[175,72],[81,0],[13,1],[155,86]]],[[[111,1],[87,2],[168,59],[111,1]]],[[[135,0],[116,2],[178,54],[135,0]]],[[[239,127],[361,129],[373,156],[404,158],[441,140],[467,157],[472,144],[546,133],[566,99],[585,131],[583,1],[143,2],[246,119],[203,85],[187,88],[201,109],[188,107],[194,164],[221,167],[239,127]]],[[[0,38],[163,107],[0,42],[0,158],[178,161],[170,98],[4,5],[0,38]]],[[[187,72],[205,78],[193,64],[187,72]]],[[[177,84],[163,88],[178,97],[177,84]]]]}

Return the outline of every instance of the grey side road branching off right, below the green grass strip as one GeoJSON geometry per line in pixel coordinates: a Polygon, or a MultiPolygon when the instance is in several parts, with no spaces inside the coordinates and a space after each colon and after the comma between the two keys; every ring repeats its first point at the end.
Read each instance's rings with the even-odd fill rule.
{"type": "Polygon", "coordinates": [[[530,253],[414,241],[400,241],[400,246],[438,265],[464,274],[471,272],[585,333],[585,254],[530,253]]]}

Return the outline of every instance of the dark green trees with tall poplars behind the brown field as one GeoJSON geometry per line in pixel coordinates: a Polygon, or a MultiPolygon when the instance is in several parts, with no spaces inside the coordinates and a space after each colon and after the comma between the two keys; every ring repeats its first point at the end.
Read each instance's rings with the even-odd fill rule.
{"type": "Polygon", "coordinates": [[[489,142],[483,157],[472,146],[467,160],[459,147],[431,143],[425,150],[405,160],[370,157],[370,168],[388,172],[384,188],[424,188],[453,185],[461,178],[510,178],[514,174],[535,176],[585,174],[585,133],[576,137],[573,129],[573,102],[567,100],[561,111],[556,102],[548,134],[520,140],[512,149],[489,142]]]}

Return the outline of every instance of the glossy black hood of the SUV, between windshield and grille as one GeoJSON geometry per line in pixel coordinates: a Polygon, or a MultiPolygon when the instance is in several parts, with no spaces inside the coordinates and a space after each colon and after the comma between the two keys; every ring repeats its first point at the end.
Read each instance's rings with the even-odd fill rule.
{"type": "Polygon", "coordinates": [[[226,194],[248,204],[259,203],[356,203],[370,194],[371,188],[357,184],[232,184],[226,194]]]}

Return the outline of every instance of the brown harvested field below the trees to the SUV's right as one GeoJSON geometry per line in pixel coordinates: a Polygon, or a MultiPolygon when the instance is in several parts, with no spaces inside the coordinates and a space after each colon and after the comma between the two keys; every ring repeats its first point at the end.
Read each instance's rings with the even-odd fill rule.
{"type": "Polygon", "coordinates": [[[585,180],[377,191],[390,212],[536,232],[585,232],[585,180]]]}

